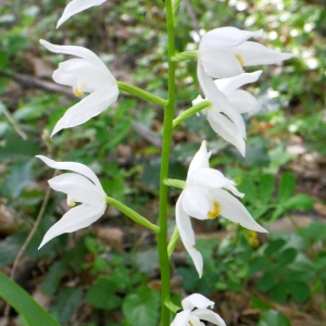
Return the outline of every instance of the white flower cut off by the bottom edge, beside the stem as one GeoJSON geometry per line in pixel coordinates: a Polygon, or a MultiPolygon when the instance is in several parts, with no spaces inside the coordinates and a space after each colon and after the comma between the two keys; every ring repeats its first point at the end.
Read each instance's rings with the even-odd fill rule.
{"type": "Polygon", "coordinates": [[[191,294],[181,301],[184,311],[176,314],[170,326],[204,326],[200,322],[206,321],[214,325],[226,326],[221,316],[210,309],[214,308],[214,302],[203,297],[202,294],[191,294]],[[193,310],[196,308],[196,310],[193,310]]]}

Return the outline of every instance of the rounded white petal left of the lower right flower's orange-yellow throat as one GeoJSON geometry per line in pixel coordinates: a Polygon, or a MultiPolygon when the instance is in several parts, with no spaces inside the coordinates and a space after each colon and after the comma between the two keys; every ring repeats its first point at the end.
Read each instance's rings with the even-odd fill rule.
{"type": "Polygon", "coordinates": [[[198,186],[187,186],[183,196],[184,211],[198,220],[208,220],[211,203],[205,196],[205,189],[198,186]]]}

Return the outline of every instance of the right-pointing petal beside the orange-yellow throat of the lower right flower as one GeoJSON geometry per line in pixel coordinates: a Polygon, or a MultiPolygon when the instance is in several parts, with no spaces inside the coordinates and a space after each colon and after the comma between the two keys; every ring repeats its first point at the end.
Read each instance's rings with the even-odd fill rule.
{"type": "Polygon", "coordinates": [[[242,203],[233,195],[223,189],[212,190],[214,198],[221,204],[221,215],[231,222],[239,223],[241,226],[259,233],[267,233],[249,214],[242,203]]]}

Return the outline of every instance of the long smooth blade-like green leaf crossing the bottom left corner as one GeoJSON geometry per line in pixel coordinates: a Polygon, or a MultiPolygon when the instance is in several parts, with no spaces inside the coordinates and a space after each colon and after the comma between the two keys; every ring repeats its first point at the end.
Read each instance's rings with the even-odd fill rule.
{"type": "Polygon", "coordinates": [[[60,326],[24,289],[1,272],[0,297],[23,315],[29,326],[60,326]]]}

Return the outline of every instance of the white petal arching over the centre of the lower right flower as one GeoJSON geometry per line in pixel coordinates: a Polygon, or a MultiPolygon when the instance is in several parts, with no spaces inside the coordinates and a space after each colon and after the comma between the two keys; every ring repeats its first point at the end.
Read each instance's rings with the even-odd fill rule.
{"type": "Polygon", "coordinates": [[[210,167],[195,170],[187,178],[187,181],[196,183],[199,186],[206,188],[222,188],[228,184],[234,184],[227,179],[223,173],[210,167]]]}

